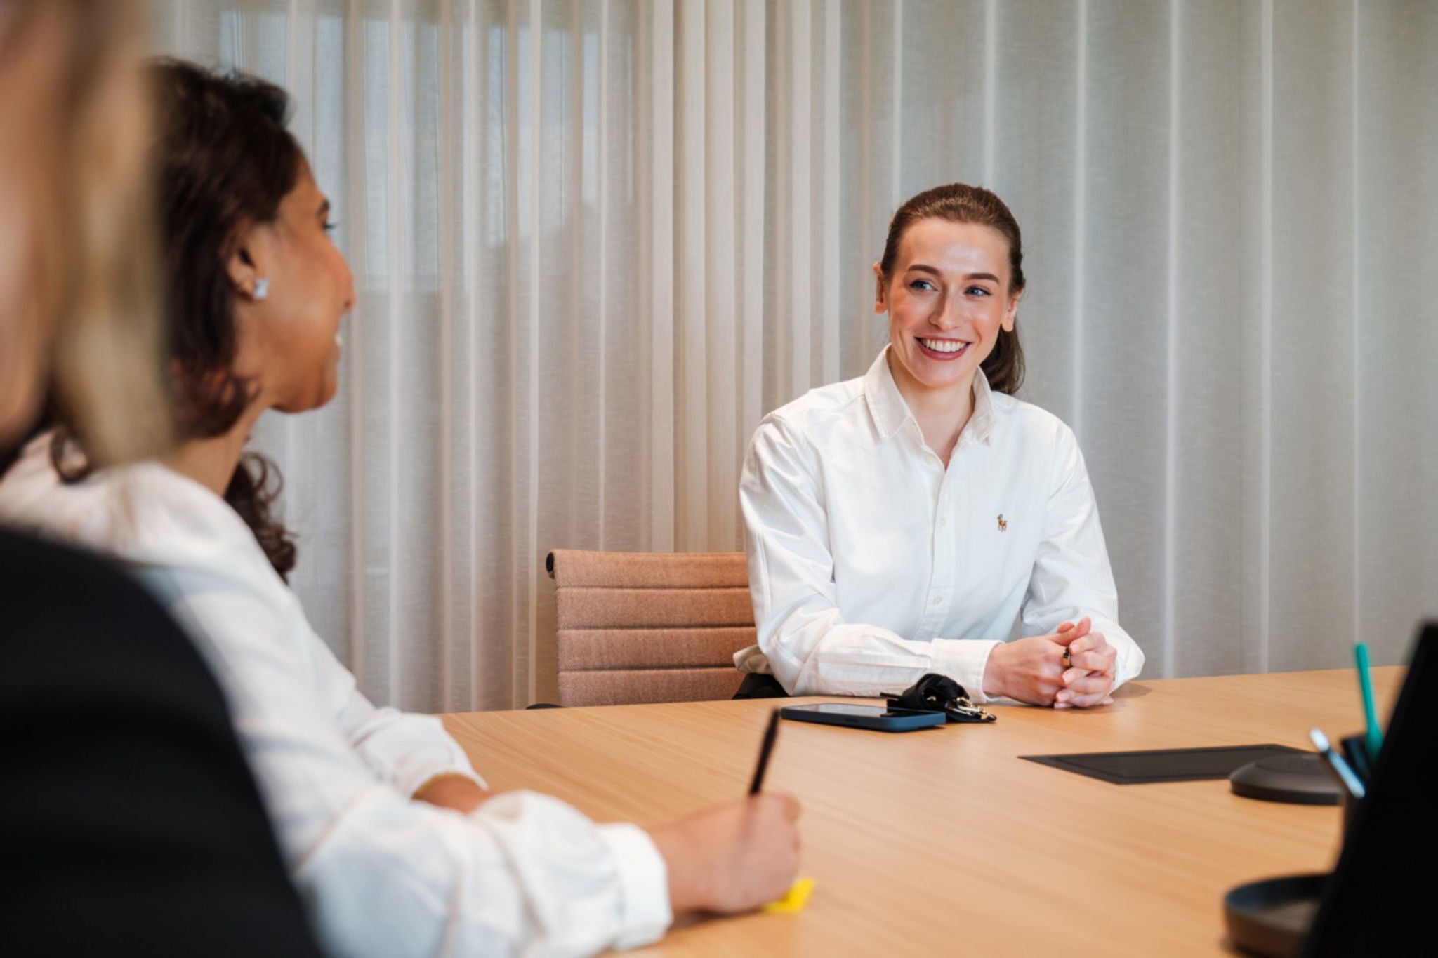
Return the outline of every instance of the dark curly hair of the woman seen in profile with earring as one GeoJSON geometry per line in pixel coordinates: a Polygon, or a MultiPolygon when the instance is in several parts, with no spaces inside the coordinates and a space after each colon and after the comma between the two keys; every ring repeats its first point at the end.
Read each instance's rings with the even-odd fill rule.
{"type": "MultiPolygon", "coordinates": [[[[295,188],[303,152],[285,128],[289,96],[243,73],[216,73],[183,60],[152,60],[154,172],[164,259],[165,345],[175,435],[203,440],[227,432],[255,396],[232,372],[236,356],[234,289],[227,261],[242,233],[273,223],[295,188]]],[[[62,468],[73,429],[58,417],[50,458],[62,468]]],[[[295,539],[270,510],[283,480],[259,452],[244,452],[224,501],[255,533],[275,572],[295,567],[295,539]]]]}

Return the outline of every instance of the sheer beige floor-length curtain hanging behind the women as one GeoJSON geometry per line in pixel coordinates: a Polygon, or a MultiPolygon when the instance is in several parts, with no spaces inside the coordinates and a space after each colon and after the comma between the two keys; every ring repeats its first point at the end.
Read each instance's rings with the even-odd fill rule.
{"type": "Polygon", "coordinates": [[[759,417],[863,372],[936,182],[1024,225],[1149,675],[1398,661],[1438,613],[1438,7],[158,0],[283,83],[360,307],[272,417],[295,586],[381,702],[554,695],[557,546],[742,547],[759,417]]]}

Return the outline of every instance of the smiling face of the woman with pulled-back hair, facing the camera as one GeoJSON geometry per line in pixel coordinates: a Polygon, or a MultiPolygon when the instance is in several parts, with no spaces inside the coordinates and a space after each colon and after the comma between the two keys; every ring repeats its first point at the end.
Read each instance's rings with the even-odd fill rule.
{"type": "Polygon", "coordinates": [[[905,230],[893,274],[874,264],[874,312],[889,313],[890,369],[906,398],[963,392],[1014,329],[1008,240],[994,227],[919,220],[905,230]]]}

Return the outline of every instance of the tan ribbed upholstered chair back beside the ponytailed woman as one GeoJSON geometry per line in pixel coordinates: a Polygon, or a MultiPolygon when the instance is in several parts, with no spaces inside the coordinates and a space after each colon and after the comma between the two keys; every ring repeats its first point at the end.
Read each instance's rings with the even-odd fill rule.
{"type": "Polygon", "coordinates": [[[561,705],[729,698],[754,645],[742,552],[555,549],[561,705]]]}

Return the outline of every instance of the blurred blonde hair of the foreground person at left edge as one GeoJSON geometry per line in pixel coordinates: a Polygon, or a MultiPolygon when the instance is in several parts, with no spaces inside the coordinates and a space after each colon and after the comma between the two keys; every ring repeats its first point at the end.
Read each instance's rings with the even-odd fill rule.
{"type": "Polygon", "coordinates": [[[55,157],[40,198],[47,215],[33,236],[49,414],[83,438],[95,465],[155,455],[171,427],[142,24],[129,0],[19,0],[12,13],[17,33],[7,45],[27,42],[42,16],[60,17],[63,37],[55,157]]]}

